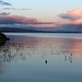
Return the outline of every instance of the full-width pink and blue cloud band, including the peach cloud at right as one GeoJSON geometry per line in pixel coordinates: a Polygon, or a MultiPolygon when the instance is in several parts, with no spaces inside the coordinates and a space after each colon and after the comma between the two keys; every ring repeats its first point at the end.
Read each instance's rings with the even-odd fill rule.
{"type": "Polygon", "coordinates": [[[63,20],[68,19],[70,23],[57,23],[57,22],[39,22],[34,17],[25,17],[23,15],[10,15],[10,13],[0,13],[0,25],[15,25],[20,27],[31,27],[56,31],[56,32],[82,32],[82,8],[68,11],[67,13],[59,14],[63,20]]]}

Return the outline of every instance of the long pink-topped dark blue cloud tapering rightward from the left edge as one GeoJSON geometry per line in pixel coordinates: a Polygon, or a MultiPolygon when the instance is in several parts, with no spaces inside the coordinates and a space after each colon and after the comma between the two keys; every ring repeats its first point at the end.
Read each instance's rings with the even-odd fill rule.
{"type": "Polygon", "coordinates": [[[8,15],[10,13],[1,13],[0,24],[54,24],[54,22],[39,22],[34,17],[25,17],[23,15],[8,15]],[[2,15],[4,14],[4,15],[2,15]]]}

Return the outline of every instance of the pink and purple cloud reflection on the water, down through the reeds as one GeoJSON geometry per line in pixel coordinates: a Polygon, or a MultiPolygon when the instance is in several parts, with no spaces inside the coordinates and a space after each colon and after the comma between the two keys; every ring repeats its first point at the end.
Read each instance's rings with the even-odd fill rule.
{"type": "MultiPolygon", "coordinates": [[[[82,39],[10,36],[11,40],[0,48],[0,61],[25,60],[30,56],[65,55],[65,60],[71,61],[72,55],[82,56],[82,39]]],[[[72,62],[72,61],[71,61],[72,62]]]]}

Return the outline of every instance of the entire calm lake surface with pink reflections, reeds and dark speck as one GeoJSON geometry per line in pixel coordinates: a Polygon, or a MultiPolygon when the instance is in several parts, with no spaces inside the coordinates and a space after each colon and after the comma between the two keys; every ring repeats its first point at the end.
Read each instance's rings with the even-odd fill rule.
{"type": "Polygon", "coordinates": [[[0,82],[82,82],[82,34],[5,34],[0,82]]]}

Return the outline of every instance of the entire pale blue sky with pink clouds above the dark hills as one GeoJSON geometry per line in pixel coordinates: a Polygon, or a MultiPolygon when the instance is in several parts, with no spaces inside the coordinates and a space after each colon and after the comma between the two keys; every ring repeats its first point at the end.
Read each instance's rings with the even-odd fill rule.
{"type": "Polygon", "coordinates": [[[82,31],[82,0],[0,0],[0,26],[82,31]]]}

